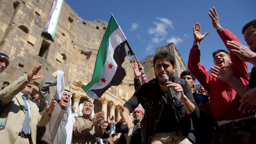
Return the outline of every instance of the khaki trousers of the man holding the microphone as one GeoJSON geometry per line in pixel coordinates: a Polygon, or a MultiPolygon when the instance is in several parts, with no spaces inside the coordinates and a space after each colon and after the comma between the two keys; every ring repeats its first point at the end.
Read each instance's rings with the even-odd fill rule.
{"type": "Polygon", "coordinates": [[[154,133],[151,144],[192,144],[182,132],[154,133]]]}

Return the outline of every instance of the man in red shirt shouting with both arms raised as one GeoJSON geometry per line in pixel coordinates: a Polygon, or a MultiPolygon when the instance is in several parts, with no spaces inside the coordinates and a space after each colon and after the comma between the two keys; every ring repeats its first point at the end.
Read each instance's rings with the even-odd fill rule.
{"type": "MultiPolygon", "coordinates": [[[[219,18],[216,12],[216,9],[210,9],[211,13],[208,13],[212,19],[212,25],[217,30],[220,38],[224,42],[225,46],[229,49],[229,46],[226,44],[226,41],[237,41],[240,43],[239,39],[234,36],[228,29],[223,29],[220,25],[219,18]]],[[[211,74],[200,62],[200,50],[199,43],[208,33],[201,35],[201,28],[199,23],[194,26],[194,43],[192,49],[190,50],[188,69],[193,73],[193,75],[198,79],[202,86],[210,95],[211,100],[211,111],[214,120],[219,126],[219,140],[221,143],[237,143],[244,142],[243,140],[248,140],[248,142],[255,142],[251,138],[255,137],[254,132],[250,133],[250,138],[245,139],[248,131],[243,131],[244,127],[247,128],[248,125],[255,123],[255,113],[253,115],[243,114],[239,111],[239,100],[241,96],[230,87],[226,82],[223,82],[211,74]],[[235,131],[235,132],[234,132],[235,131]],[[240,133],[238,131],[241,131],[240,133]]],[[[249,77],[248,77],[248,65],[247,62],[243,62],[239,57],[232,52],[228,54],[225,50],[217,50],[213,54],[214,65],[226,70],[230,62],[233,63],[233,75],[243,83],[248,86],[249,77]]],[[[254,124],[255,125],[255,124],[254,124]]],[[[250,128],[251,130],[253,127],[250,128]]],[[[250,131],[251,132],[251,131],[250,131]]]]}

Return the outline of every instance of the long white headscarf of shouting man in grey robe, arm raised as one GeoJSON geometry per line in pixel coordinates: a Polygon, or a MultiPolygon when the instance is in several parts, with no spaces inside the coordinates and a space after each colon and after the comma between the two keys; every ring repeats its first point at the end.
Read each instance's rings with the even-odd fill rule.
{"type": "Polygon", "coordinates": [[[62,97],[63,92],[66,92],[70,95],[70,102],[66,108],[67,110],[67,115],[68,115],[68,121],[67,121],[67,125],[65,127],[66,130],[66,144],[71,143],[72,140],[72,133],[73,133],[73,124],[75,123],[75,119],[74,116],[72,115],[72,110],[71,110],[71,97],[72,97],[72,93],[64,91],[65,89],[65,84],[64,84],[64,72],[62,70],[58,71],[58,75],[57,75],[57,87],[56,87],[56,92],[55,95],[53,96],[54,99],[60,100],[62,97]]]}

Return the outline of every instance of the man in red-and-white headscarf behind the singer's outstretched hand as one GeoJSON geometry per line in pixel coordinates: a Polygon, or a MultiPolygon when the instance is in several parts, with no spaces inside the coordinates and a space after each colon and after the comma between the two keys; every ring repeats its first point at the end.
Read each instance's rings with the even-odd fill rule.
{"type": "Polygon", "coordinates": [[[127,144],[132,143],[141,143],[141,126],[140,122],[143,119],[144,111],[140,108],[136,108],[132,112],[132,117],[134,118],[133,124],[134,127],[131,129],[128,129],[127,124],[122,124],[122,119],[119,120],[119,122],[116,124],[116,132],[122,133],[122,134],[128,134],[127,136],[127,144]]]}

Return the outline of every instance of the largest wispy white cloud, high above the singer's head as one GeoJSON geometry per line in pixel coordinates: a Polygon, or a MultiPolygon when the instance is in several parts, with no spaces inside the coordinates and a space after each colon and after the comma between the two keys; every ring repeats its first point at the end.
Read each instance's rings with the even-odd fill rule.
{"type": "Polygon", "coordinates": [[[168,27],[171,27],[172,29],[172,21],[167,19],[167,18],[161,18],[161,17],[156,17],[156,19],[160,20],[161,22],[153,22],[156,27],[155,28],[148,28],[148,33],[149,34],[154,34],[155,37],[159,37],[159,36],[165,36],[167,34],[166,29],[168,27]]]}

